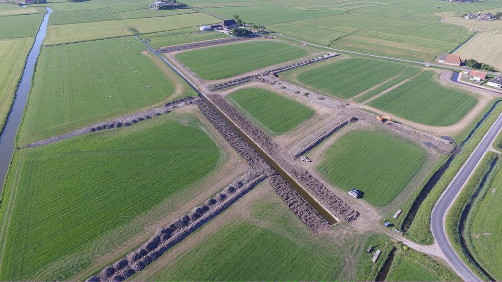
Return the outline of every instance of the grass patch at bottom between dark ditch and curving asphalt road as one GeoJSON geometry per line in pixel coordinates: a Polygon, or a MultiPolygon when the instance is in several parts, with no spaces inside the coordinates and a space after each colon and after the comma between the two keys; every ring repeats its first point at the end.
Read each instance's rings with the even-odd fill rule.
{"type": "Polygon", "coordinates": [[[411,248],[396,251],[386,281],[459,281],[455,273],[431,257],[411,248]]]}

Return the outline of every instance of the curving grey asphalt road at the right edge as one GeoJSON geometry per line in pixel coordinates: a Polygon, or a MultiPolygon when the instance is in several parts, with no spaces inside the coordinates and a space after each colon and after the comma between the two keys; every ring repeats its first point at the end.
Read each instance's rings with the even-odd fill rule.
{"type": "Polygon", "coordinates": [[[431,228],[434,240],[438,243],[447,260],[465,281],[481,281],[481,279],[474,274],[469,267],[467,267],[462,259],[460,259],[448,240],[445,230],[446,213],[455,201],[455,198],[460,190],[469,180],[469,177],[476,169],[485,153],[489,150],[491,143],[500,132],[500,129],[502,129],[502,114],[498,116],[481,142],[479,142],[476,149],[474,149],[467,161],[457,172],[453,180],[436,202],[431,214],[431,228]]]}

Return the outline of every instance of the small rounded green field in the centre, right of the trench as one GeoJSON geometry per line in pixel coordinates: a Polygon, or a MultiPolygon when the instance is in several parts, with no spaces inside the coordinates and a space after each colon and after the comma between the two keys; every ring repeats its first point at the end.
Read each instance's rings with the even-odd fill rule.
{"type": "Polygon", "coordinates": [[[286,133],[314,114],[295,100],[261,88],[235,91],[230,99],[247,117],[273,134],[286,133]]]}

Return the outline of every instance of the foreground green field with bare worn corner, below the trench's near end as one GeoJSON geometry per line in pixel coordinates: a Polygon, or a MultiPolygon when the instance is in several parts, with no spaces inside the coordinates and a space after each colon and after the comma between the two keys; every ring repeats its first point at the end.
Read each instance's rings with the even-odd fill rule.
{"type": "MultiPolygon", "coordinates": [[[[232,205],[229,220],[167,263],[156,261],[131,280],[304,281],[337,280],[342,247],[315,234],[269,187],[246,206],[232,205]],[[238,206],[238,207],[237,207],[238,206]],[[239,211],[244,210],[245,215],[239,211]],[[236,212],[236,213],[235,213],[236,212]]],[[[264,190],[262,190],[264,191],[264,190]]],[[[253,193],[251,191],[250,193],[253,193]]],[[[225,212],[225,213],[226,213],[225,212]]],[[[223,213],[219,216],[226,216],[223,213]]],[[[228,218],[228,217],[227,217],[228,218]]],[[[207,224],[207,228],[211,227],[207,224]]],[[[202,232],[206,226],[202,227],[202,232]]],[[[187,239],[190,239],[187,238],[187,239]]],[[[347,242],[347,244],[351,244],[347,242]]],[[[166,253],[165,255],[172,255],[166,253]]]]}

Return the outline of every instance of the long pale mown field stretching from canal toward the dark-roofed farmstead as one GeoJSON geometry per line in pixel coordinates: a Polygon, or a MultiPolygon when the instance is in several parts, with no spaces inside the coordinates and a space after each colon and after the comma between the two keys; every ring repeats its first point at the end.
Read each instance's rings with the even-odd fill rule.
{"type": "Polygon", "coordinates": [[[105,22],[49,26],[44,44],[53,45],[80,42],[101,38],[119,37],[139,33],[155,33],[213,24],[217,19],[201,13],[155,17],[148,19],[127,19],[105,22]],[[106,28],[103,28],[105,26],[106,28]]]}

